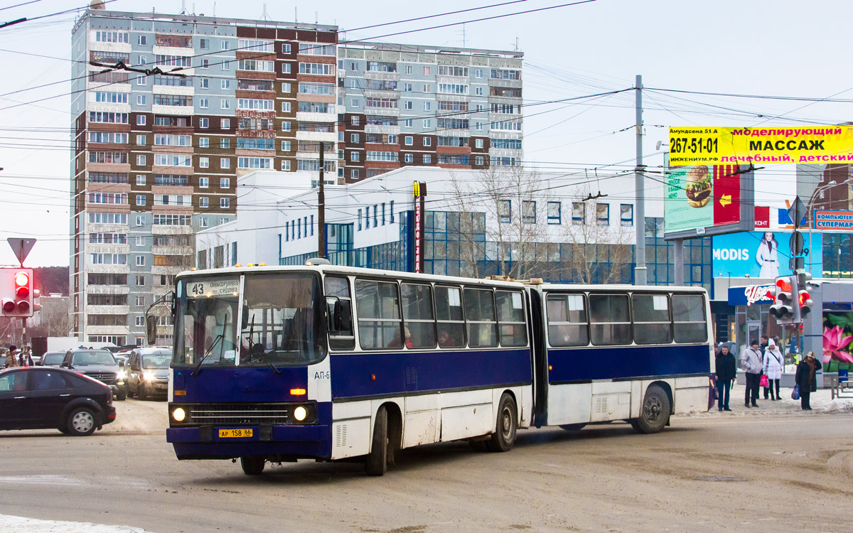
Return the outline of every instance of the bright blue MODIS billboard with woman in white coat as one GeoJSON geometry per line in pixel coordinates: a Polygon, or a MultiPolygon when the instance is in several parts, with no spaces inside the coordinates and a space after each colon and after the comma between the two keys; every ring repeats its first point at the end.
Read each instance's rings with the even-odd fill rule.
{"type": "MultiPolygon", "coordinates": [[[[714,277],[746,277],[773,279],[780,275],[790,275],[791,232],[746,231],[728,235],[716,235],[711,240],[711,269],[714,277]]],[[[804,235],[805,246],[809,246],[809,236],[804,235]]],[[[821,234],[811,237],[816,251],[823,248],[821,234]]],[[[821,253],[806,258],[811,263],[811,275],[815,278],[823,275],[821,253]]]]}

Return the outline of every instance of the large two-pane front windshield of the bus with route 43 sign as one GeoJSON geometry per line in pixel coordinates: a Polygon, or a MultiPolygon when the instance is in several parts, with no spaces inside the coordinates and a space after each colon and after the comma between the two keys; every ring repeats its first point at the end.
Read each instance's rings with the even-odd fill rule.
{"type": "Polygon", "coordinates": [[[316,275],[250,273],[242,278],[242,293],[240,276],[180,281],[176,365],[194,366],[204,357],[202,368],[299,366],[326,356],[316,275]]]}

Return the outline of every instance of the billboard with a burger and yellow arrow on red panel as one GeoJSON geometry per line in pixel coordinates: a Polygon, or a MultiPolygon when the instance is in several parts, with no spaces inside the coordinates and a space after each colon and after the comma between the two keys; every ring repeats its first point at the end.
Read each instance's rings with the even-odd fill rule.
{"type": "Polygon", "coordinates": [[[664,237],[753,229],[751,184],[751,172],[738,165],[670,168],[664,184],[664,237]]]}

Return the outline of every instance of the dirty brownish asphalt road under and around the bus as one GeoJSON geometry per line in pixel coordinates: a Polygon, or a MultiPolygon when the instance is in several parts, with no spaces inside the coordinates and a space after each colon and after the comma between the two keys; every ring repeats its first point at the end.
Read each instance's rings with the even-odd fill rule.
{"type": "MultiPolygon", "coordinates": [[[[853,414],[705,414],[519,432],[506,454],[403,450],[355,463],[177,461],[165,403],[128,400],[93,437],[0,433],[0,514],[171,531],[834,531],[853,502],[853,414]],[[728,416],[727,416],[728,415],[728,416]]],[[[848,523],[849,524],[849,523],[848,523]]]]}

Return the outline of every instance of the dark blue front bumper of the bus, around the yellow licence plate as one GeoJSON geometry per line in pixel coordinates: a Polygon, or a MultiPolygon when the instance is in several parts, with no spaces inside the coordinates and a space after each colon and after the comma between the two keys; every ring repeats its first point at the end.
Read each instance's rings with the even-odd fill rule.
{"type": "Polygon", "coordinates": [[[329,459],[332,432],[326,425],[251,426],[252,437],[219,437],[219,426],[170,427],[166,442],[172,443],[178,459],[231,459],[241,455],[279,455],[329,459]]]}

